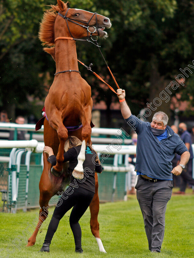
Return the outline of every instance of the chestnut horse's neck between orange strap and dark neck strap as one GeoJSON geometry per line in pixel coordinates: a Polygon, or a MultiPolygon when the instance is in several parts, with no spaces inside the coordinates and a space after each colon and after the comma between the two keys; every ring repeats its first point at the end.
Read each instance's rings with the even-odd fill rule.
{"type": "Polygon", "coordinates": [[[59,39],[55,44],[56,72],[78,71],[78,59],[75,41],[59,39]]]}

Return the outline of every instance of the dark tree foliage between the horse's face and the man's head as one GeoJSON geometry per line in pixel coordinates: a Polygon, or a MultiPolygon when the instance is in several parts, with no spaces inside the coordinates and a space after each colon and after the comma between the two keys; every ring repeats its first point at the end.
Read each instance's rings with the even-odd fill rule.
{"type": "MultiPolygon", "coordinates": [[[[186,0],[95,1],[93,11],[101,13],[101,10],[108,11],[112,20],[102,51],[120,88],[126,89],[132,112],[138,115],[141,109],[148,108],[146,103],[160,98],[161,92],[180,73],[180,68],[192,65],[194,4],[186,0]]],[[[99,54],[91,50],[87,53],[87,59],[93,56],[96,60],[97,71],[107,74],[105,65],[98,60],[99,54]]],[[[187,86],[180,85],[169,98],[181,91],[181,100],[189,100],[188,94],[192,96],[193,88],[193,78],[189,76],[187,86]]],[[[97,100],[105,95],[99,92],[97,100]]],[[[105,95],[106,101],[107,98],[105,95]]],[[[170,116],[170,100],[166,100],[159,103],[158,109],[170,116]]]]}

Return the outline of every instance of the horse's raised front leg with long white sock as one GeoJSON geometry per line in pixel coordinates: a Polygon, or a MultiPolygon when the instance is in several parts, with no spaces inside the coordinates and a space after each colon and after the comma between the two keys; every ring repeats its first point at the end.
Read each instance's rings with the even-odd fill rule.
{"type": "Polygon", "coordinates": [[[80,150],[80,153],[78,155],[78,164],[74,168],[74,171],[72,175],[75,178],[83,179],[84,178],[84,173],[83,173],[83,162],[85,160],[85,151],[86,151],[86,143],[90,143],[90,137],[91,137],[91,132],[92,128],[90,126],[91,122],[91,107],[88,106],[87,108],[84,109],[81,115],[81,121],[82,121],[82,147],[80,150]]]}

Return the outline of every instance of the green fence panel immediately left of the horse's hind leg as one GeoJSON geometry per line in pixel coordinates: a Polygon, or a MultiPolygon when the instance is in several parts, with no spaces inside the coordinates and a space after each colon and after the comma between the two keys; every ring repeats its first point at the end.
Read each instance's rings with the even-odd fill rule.
{"type": "Polygon", "coordinates": [[[27,209],[39,206],[39,182],[42,174],[41,165],[30,165],[27,209]]]}

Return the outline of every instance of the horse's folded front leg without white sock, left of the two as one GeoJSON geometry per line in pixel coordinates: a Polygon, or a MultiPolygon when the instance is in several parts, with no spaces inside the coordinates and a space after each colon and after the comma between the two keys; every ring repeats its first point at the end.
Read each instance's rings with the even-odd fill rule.
{"type": "Polygon", "coordinates": [[[63,174],[63,160],[64,160],[64,146],[65,141],[68,137],[67,128],[63,125],[63,121],[61,123],[57,122],[59,120],[53,120],[51,122],[51,126],[56,129],[58,137],[59,137],[59,149],[56,156],[57,163],[51,169],[51,172],[54,176],[61,176],[63,174]]]}

